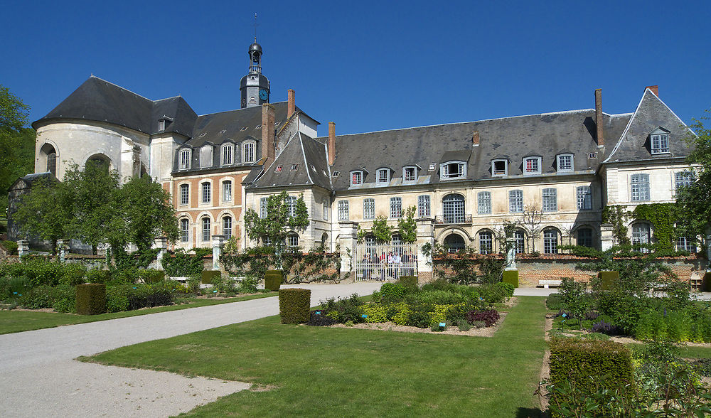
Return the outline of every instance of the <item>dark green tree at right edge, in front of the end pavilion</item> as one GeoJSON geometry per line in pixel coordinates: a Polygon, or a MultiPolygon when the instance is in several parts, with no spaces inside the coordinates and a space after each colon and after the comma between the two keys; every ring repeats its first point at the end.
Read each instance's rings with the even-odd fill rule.
{"type": "MultiPolygon", "coordinates": [[[[706,112],[711,112],[711,109],[706,112]]],[[[687,161],[695,165],[690,171],[695,181],[676,191],[676,202],[679,210],[677,234],[692,239],[701,235],[708,246],[707,230],[711,226],[711,129],[703,124],[707,119],[710,118],[694,119],[691,127],[695,136],[686,139],[694,147],[687,161]]]]}

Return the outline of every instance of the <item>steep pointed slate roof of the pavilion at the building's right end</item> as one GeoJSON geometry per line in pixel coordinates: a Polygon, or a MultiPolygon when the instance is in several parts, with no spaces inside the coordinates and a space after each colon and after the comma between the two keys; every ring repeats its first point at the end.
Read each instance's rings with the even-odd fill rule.
{"type": "Polygon", "coordinates": [[[657,95],[646,89],[624,132],[615,143],[610,142],[614,148],[604,162],[686,157],[690,148],[683,139],[693,135],[657,95]],[[669,154],[651,154],[649,134],[660,127],[669,132],[669,154]]]}

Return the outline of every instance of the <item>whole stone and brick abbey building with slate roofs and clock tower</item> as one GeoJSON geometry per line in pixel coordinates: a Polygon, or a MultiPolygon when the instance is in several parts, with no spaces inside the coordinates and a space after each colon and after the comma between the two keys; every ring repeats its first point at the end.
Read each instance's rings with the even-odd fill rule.
{"type": "MultiPolygon", "coordinates": [[[[349,135],[331,122],[319,136],[293,90],[287,102],[270,102],[262,48],[255,42],[248,53],[240,109],[220,113],[198,115],[182,97],[150,100],[90,77],[33,123],[35,173],[61,181],[68,164],[98,159],[122,178],[151,176],[173,199],[177,247],[209,247],[215,235],[256,245],[245,234],[245,210],[263,213],[268,195],[287,191],[304,195],[310,217],[289,245],[343,252],[358,227],[368,230],[379,216],[395,226],[414,206],[418,247],[437,241],[484,254],[500,250],[504,223],[521,223],[531,208],[540,234],[515,230],[516,252],[609,247],[606,206],[672,202],[691,181],[683,139],[693,132],[657,86],[640,88],[641,100],[624,114],[605,113],[597,90],[589,109],[349,135]]],[[[644,220],[631,220],[629,234],[655,239],[644,220]]],[[[688,237],[675,244],[694,249],[688,237]]],[[[427,271],[420,256],[419,271],[427,271]]]]}

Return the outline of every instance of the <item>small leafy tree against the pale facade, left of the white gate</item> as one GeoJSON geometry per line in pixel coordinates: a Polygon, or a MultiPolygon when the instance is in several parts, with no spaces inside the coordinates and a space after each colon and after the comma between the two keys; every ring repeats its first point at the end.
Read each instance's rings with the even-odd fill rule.
{"type": "Polygon", "coordinates": [[[299,198],[282,191],[267,198],[267,213],[264,218],[253,209],[245,213],[245,229],[251,240],[264,240],[280,247],[289,235],[289,229],[305,230],[309,226],[309,210],[304,195],[299,198]]]}

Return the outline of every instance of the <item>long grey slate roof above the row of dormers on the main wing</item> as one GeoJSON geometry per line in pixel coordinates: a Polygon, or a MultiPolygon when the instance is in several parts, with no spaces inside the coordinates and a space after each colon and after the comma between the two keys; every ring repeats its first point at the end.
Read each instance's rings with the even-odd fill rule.
{"type": "MultiPolygon", "coordinates": [[[[630,117],[604,114],[606,140],[619,138],[630,117]]],[[[523,157],[529,155],[542,156],[543,175],[556,173],[555,157],[563,150],[574,154],[574,171],[593,173],[602,161],[588,159],[589,153],[599,151],[594,120],[594,109],[582,109],[336,136],[336,161],[331,171],[341,174],[333,178],[333,190],[350,188],[351,171],[375,173],[383,166],[395,171],[390,186],[402,183],[402,167],[415,164],[422,167],[417,183],[451,181],[439,179],[439,163],[459,157],[467,161],[466,156],[469,181],[492,178],[491,160],[502,156],[510,161],[506,178],[523,176],[523,157]],[[474,132],[479,132],[479,146],[472,144],[474,132]],[[431,164],[435,167],[429,171],[431,164]]],[[[374,184],[375,175],[366,174],[360,187],[374,184]]]]}

